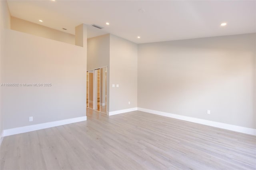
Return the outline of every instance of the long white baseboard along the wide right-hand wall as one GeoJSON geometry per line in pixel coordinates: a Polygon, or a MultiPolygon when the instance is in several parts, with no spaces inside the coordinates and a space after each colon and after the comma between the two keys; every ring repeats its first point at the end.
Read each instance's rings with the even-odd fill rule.
{"type": "Polygon", "coordinates": [[[218,128],[223,128],[223,129],[227,129],[227,130],[236,131],[236,132],[256,135],[256,129],[254,129],[254,128],[240,127],[240,126],[236,126],[236,125],[230,125],[230,124],[226,124],[226,123],[208,121],[208,120],[204,120],[204,119],[198,119],[198,118],[193,118],[193,117],[176,115],[176,114],[166,113],[166,112],[161,112],[161,111],[154,111],[154,110],[144,109],[144,108],[140,108],[140,107],[138,107],[138,111],[143,111],[143,112],[152,113],[152,114],[155,114],[155,115],[161,115],[161,116],[165,116],[165,117],[171,117],[171,118],[180,119],[180,120],[183,120],[183,121],[199,123],[199,124],[208,125],[208,126],[211,126],[211,127],[218,127],[218,128]]]}

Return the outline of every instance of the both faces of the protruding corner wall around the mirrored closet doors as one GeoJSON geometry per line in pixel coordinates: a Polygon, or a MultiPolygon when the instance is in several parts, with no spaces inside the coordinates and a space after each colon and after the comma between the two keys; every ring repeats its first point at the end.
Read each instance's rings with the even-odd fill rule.
{"type": "Polygon", "coordinates": [[[87,42],[87,70],[108,67],[107,111],[137,107],[137,44],[112,34],[87,42]],[[112,84],[120,87],[113,88],[112,84]]]}

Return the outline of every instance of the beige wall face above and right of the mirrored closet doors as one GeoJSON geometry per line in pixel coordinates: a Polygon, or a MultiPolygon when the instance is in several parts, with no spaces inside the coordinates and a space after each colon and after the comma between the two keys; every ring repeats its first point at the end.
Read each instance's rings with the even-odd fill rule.
{"type": "MultiPolygon", "coordinates": [[[[89,38],[87,40],[87,70],[98,69],[107,66],[109,82],[109,59],[110,59],[110,34],[89,38]]],[[[109,101],[109,83],[107,84],[107,96],[109,101]]],[[[109,111],[109,102],[107,102],[109,111]]]]}

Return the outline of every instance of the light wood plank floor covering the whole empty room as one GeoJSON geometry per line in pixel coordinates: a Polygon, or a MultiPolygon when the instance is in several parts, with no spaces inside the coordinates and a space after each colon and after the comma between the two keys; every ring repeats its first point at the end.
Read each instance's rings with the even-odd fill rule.
{"type": "Polygon", "coordinates": [[[1,170],[256,169],[256,136],[140,111],[88,111],[84,122],[4,137],[1,170]]]}

